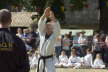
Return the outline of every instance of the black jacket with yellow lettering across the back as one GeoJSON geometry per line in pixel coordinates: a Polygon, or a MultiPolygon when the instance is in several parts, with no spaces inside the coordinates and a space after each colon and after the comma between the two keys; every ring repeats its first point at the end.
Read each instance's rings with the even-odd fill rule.
{"type": "Polygon", "coordinates": [[[29,72],[26,48],[7,28],[0,28],[0,72],[29,72]]]}

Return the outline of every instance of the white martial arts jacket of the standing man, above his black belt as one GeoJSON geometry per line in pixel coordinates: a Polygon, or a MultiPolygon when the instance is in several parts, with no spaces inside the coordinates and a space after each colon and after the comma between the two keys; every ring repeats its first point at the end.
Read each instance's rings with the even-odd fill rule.
{"type": "Polygon", "coordinates": [[[45,41],[45,24],[46,18],[41,17],[38,24],[38,30],[40,35],[40,54],[42,56],[52,55],[54,53],[54,45],[57,41],[57,37],[60,35],[60,25],[59,22],[56,21],[53,25],[53,34],[49,37],[49,39],[45,41]],[[43,45],[44,44],[44,45],[43,45]]]}

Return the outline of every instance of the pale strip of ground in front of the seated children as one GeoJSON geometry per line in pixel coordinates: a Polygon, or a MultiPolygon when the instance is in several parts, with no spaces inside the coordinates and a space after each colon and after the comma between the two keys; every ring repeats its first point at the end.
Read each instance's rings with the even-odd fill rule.
{"type": "MultiPolygon", "coordinates": [[[[31,72],[36,72],[32,70],[31,72]]],[[[56,72],[108,72],[108,69],[71,69],[71,68],[57,68],[56,72]]]]}

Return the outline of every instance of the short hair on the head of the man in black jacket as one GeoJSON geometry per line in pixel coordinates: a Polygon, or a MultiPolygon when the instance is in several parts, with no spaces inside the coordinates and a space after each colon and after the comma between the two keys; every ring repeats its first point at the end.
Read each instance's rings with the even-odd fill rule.
{"type": "Polygon", "coordinates": [[[11,20],[11,12],[8,9],[0,10],[0,23],[5,24],[11,20]]]}

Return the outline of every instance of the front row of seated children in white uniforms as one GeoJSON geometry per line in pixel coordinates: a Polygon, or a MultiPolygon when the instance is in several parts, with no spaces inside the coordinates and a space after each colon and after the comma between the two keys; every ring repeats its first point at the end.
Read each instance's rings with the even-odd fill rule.
{"type": "MultiPolygon", "coordinates": [[[[30,67],[35,68],[38,65],[39,54],[36,51],[30,51],[29,53],[30,67]]],[[[86,50],[86,55],[80,57],[77,54],[77,50],[73,48],[71,50],[71,55],[66,55],[65,51],[61,51],[59,58],[54,57],[55,67],[57,68],[105,68],[105,63],[102,60],[102,55],[100,53],[96,54],[96,58],[93,60],[92,52],[90,49],[86,50]]]]}

